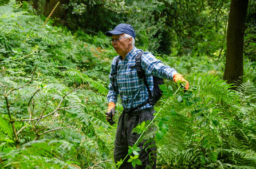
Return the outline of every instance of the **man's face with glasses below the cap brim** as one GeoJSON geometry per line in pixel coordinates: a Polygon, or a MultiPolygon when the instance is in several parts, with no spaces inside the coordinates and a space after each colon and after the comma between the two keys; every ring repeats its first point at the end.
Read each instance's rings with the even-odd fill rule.
{"type": "Polygon", "coordinates": [[[123,38],[125,37],[124,34],[120,35],[112,35],[112,39],[122,38],[119,39],[119,43],[112,42],[116,53],[122,57],[126,57],[126,55],[131,51],[131,39],[123,38]]]}

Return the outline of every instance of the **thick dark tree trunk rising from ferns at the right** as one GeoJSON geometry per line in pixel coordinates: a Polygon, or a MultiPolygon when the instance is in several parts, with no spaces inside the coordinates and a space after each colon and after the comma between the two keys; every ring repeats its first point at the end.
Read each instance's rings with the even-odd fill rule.
{"type": "Polygon", "coordinates": [[[243,76],[243,34],[249,0],[231,0],[227,26],[227,55],[223,80],[238,81],[243,76]]]}

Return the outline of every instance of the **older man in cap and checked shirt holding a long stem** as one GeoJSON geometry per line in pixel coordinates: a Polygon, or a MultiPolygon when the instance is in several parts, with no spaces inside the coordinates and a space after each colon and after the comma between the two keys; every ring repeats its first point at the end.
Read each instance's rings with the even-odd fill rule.
{"type": "MultiPolygon", "coordinates": [[[[115,114],[118,95],[124,107],[124,111],[119,117],[116,131],[114,159],[117,163],[117,161],[125,158],[128,154],[128,146],[132,147],[140,136],[139,134],[132,133],[133,128],[136,127],[136,117],[139,116],[139,123],[152,120],[155,110],[152,105],[147,104],[146,101],[149,98],[147,87],[145,87],[143,80],[137,77],[135,57],[141,50],[135,47],[136,35],[132,26],[121,23],[117,25],[113,31],[108,31],[106,35],[112,37],[110,41],[116,53],[119,54],[119,56],[113,58],[111,64],[111,75],[109,79],[112,83],[109,84],[109,92],[107,95],[109,102],[108,112],[111,112],[112,115],[115,114]],[[117,58],[119,58],[119,63],[116,70],[117,58]],[[143,105],[143,103],[146,104],[140,107],[139,105],[143,105]],[[138,106],[139,108],[137,109],[138,106]]],[[[141,67],[145,72],[151,92],[153,90],[152,76],[171,79],[175,82],[178,80],[186,81],[176,70],[172,69],[170,66],[163,65],[149,52],[145,52],[141,55],[141,67]]],[[[186,81],[186,83],[186,88],[188,89],[188,82],[186,81]]],[[[138,144],[141,150],[139,152],[139,159],[143,165],[136,165],[135,168],[146,168],[147,166],[156,168],[156,147],[148,148],[147,151],[145,151],[145,148],[150,144],[147,144],[143,148],[143,143],[138,144]]],[[[119,168],[133,168],[132,163],[127,162],[128,159],[129,158],[127,158],[119,168]]]]}

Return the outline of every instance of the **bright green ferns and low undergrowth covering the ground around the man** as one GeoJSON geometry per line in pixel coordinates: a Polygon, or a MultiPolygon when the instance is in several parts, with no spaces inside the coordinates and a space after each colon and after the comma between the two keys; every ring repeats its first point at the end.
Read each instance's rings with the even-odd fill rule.
{"type": "MultiPolygon", "coordinates": [[[[51,20],[44,26],[31,10],[15,1],[0,6],[0,168],[115,168],[117,126],[105,119],[116,55],[109,39],[51,20]]],[[[155,140],[157,166],[256,168],[255,62],[245,58],[241,85],[231,90],[222,80],[224,55],[156,58],[190,82],[185,92],[165,80],[156,130],[135,129],[155,140]]],[[[117,122],[120,100],[116,110],[117,122]]]]}

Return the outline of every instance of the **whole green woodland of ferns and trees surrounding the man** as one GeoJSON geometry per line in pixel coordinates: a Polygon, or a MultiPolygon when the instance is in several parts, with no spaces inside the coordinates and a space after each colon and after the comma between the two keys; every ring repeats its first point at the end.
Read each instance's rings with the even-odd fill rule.
{"type": "MultiPolygon", "coordinates": [[[[0,5],[0,168],[116,167],[117,126],[105,120],[116,53],[104,33],[119,23],[190,82],[184,92],[165,80],[153,124],[136,128],[155,140],[158,168],[256,168],[255,0],[0,5]]],[[[116,122],[121,110],[119,100],[116,122]]]]}

